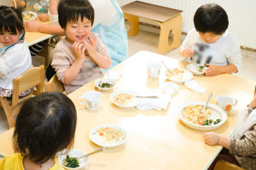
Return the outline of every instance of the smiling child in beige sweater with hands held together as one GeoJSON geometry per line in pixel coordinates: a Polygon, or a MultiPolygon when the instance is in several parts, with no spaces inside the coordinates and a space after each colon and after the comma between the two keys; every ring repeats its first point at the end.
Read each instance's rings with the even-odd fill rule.
{"type": "Polygon", "coordinates": [[[91,32],[94,9],[88,0],[61,0],[59,23],[67,37],[54,49],[51,65],[67,93],[74,91],[103,72],[111,64],[106,46],[91,32]]]}

